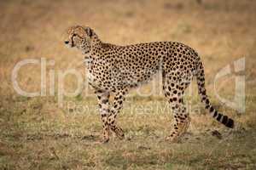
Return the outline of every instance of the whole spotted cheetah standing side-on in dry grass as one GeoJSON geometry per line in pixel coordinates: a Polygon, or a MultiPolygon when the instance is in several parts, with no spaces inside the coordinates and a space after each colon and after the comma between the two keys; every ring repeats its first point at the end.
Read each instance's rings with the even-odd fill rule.
{"type": "Polygon", "coordinates": [[[142,82],[148,82],[158,72],[174,115],[174,127],[167,140],[176,141],[189,128],[189,112],[183,103],[183,94],[193,77],[197,81],[201,102],[211,116],[226,127],[234,127],[234,121],[214,109],[207,97],[204,68],[199,55],[181,42],[119,46],[102,42],[88,26],[71,26],[64,43],[69,48],[78,48],[85,55],[88,82],[97,96],[101,113],[103,143],[108,142],[111,133],[124,139],[116,116],[123,106],[125,94],[142,82]],[[113,95],[111,103],[110,94],[113,95]]]}

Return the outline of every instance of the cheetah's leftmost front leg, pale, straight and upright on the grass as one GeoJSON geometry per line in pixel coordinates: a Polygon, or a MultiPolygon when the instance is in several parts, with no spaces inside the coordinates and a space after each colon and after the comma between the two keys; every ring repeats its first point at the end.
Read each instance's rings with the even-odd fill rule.
{"type": "Polygon", "coordinates": [[[110,128],[108,126],[108,115],[110,111],[109,109],[110,94],[108,92],[103,92],[102,90],[96,90],[95,94],[98,98],[99,110],[101,112],[102,123],[103,123],[103,138],[101,143],[107,143],[110,135],[110,128]]]}

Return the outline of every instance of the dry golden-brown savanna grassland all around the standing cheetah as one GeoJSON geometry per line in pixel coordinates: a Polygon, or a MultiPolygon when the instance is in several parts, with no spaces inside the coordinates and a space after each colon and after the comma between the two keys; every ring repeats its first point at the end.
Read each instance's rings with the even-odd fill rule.
{"type": "MultiPolygon", "coordinates": [[[[0,1],[0,169],[255,169],[255,8],[252,0],[0,1]],[[63,44],[65,30],[75,24],[91,26],[104,42],[177,41],[195,48],[205,64],[213,105],[233,117],[236,128],[227,129],[208,115],[194,82],[187,97],[189,132],[179,143],[166,142],[172,112],[156,79],[128,96],[118,116],[125,139],[97,144],[102,124],[91,90],[58,105],[58,71],[74,68],[84,75],[82,54],[63,44]],[[42,57],[55,60],[46,69],[47,95],[20,96],[11,81],[15,64],[42,57]],[[220,78],[215,90],[218,72],[226,65],[234,72],[234,61],[243,57],[245,71],[220,78]],[[55,96],[49,95],[50,70],[55,71],[55,96]],[[239,76],[246,83],[242,113],[216,96],[232,100],[239,76]]],[[[20,88],[40,90],[39,65],[22,67],[17,78],[20,88]]],[[[75,77],[65,78],[67,91],[76,86],[75,77]]]]}

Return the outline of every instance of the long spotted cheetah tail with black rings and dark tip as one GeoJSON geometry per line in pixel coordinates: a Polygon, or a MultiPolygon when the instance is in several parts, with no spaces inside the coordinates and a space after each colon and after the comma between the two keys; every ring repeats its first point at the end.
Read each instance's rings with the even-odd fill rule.
{"type": "Polygon", "coordinates": [[[198,71],[196,73],[196,81],[198,85],[198,93],[201,96],[201,102],[206,105],[206,109],[210,112],[213,118],[215,118],[218,122],[223,123],[226,127],[233,128],[234,127],[234,121],[229,118],[228,116],[224,116],[223,114],[219,113],[217,110],[215,110],[208,97],[207,97],[207,90],[205,88],[205,73],[202,63],[198,65],[198,71]]]}

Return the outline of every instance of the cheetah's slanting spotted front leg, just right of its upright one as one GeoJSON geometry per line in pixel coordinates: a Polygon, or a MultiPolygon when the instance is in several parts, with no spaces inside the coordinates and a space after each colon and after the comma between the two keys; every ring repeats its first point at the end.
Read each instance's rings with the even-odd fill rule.
{"type": "Polygon", "coordinates": [[[119,139],[124,139],[125,134],[122,128],[116,125],[116,116],[118,115],[120,109],[123,107],[126,93],[127,93],[127,90],[125,89],[125,90],[120,90],[114,94],[113,105],[111,107],[111,111],[108,116],[108,125],[119,139]]]}

